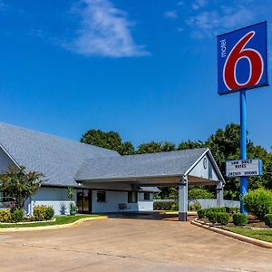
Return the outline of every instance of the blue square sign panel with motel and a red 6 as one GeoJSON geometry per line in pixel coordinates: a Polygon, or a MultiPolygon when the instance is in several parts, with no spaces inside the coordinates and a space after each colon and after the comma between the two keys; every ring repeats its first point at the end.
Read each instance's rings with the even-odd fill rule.
{"type": "Polygon", "coordinates": [[[267,86],[267,22],[218,36],[218,92],[267,86]]]}

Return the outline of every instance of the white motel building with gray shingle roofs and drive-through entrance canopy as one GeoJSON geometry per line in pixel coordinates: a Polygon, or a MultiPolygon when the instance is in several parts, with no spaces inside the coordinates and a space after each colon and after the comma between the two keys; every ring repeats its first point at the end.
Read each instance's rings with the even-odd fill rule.
{"type": "Polygon", "coordinates": [[[121,156],[78,141],[66,140],[0,122],[0,172],[10,165],[42,172],[42,186],[25,203],[52,205],[56,215],[69,214],[67,188],[79,213],[153,210],[157,187],[179,187],[179,219],[187,220],[188,186],[215,185],[223,205],[224,179],[207,148],[121,156]]]}

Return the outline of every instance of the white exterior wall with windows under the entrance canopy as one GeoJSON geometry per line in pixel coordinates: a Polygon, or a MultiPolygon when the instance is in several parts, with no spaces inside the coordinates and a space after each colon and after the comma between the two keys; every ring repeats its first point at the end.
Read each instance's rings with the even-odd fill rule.
{"type": "Polygon", "coordinates": [[[130,211],[153,210],[153,194],[151,200],[144,200],[143,193],[138,193],[137,203],[128,203],[127,191],[106,191],[106,202],[97,202],[97,190],[92,190],[92,213],[119,212],[119,203],[127,203],[130,211]]]}

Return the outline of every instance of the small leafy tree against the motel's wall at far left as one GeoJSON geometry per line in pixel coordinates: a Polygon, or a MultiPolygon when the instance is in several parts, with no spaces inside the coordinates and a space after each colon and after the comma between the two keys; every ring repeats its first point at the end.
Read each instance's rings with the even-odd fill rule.
{"type": "Polygon", "coordinates": [[[37,171],[25,172],[25,167],[15,166],[0,175],[0,190],[15,201],[15,209],[23,209],[26,199],[34,195],[41,186],[44,175],[37,171]]]}

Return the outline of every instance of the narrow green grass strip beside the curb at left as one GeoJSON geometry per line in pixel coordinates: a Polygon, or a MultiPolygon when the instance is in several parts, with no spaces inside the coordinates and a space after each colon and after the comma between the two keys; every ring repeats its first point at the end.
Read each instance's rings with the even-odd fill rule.
{"type": "Polygon", "coordinates": [[[30,223],[30,224],[0,224],[0,228],[25,228],[25,227],[42,227],[42,226],[53,226],[53,225],[63,225],[63,224],[69,224],[73,223],[74,221],[78,219],[83,218],[97,218],[99,215],[74,215],[74,216],[56,216],[55,221],[53,222],[37,222],[37,223],[30,223]]]}

